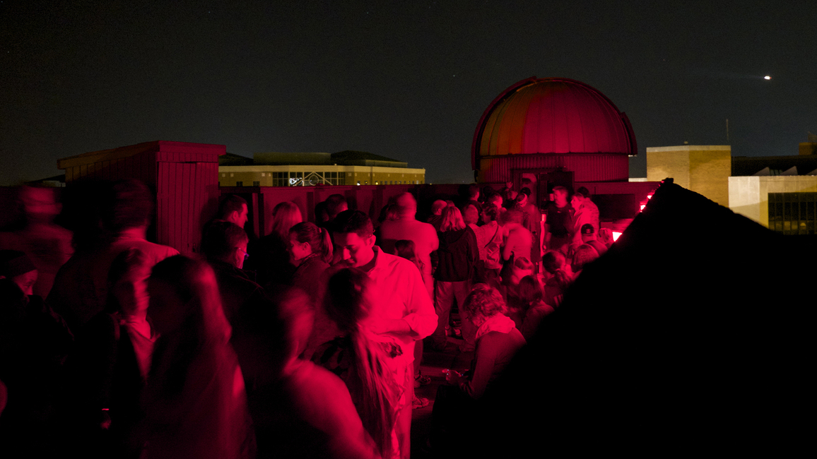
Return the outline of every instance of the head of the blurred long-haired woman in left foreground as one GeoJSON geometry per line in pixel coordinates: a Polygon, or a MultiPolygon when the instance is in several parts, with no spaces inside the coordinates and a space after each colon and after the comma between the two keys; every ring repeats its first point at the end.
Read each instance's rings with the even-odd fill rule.
{"type": "Polygon", "coordinates": [[[184,333],[197,341],[230,339],[216,274],[207,263],[183,255],[159,261],[151,271],[148,292],[150,318],[163,336],[184,333]]]}

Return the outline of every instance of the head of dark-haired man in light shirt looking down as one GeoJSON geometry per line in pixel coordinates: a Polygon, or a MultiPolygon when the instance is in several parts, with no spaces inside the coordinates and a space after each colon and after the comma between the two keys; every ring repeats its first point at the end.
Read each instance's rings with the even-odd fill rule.
{"type": "Polygon", "coordinates": [[[357,268],[374,258],[374,227],[366,214],[344,211],[333,221],[332,239],[343,265],[357,268]]]}

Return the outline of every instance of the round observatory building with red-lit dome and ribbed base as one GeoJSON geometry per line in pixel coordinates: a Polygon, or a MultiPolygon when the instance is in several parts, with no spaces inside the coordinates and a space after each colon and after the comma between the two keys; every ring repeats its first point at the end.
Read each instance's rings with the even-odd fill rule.
{"type": "Polygon", "coordinates": [[[609,220],[632,218],[658,184],[629,182],[637,153],[627,115],[596,88],[568,78],[517,82],[485,109],[471,146],[480,183],[529,187],[543,207],[554,186],[585,186],[609,220]]]}

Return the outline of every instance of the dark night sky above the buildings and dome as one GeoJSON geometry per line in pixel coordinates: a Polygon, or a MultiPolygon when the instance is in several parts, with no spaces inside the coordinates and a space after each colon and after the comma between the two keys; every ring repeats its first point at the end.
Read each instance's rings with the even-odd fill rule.
{"type": "Polygon", "coordinates": [[[645,147],[797,154],[817,133],[817,2],[0,1],[0,185],[148,140],[359,149],[472,180],[484,109],[586,82],[645,147]],[[770,75],[770,81],[763,80],[770,75]]]}

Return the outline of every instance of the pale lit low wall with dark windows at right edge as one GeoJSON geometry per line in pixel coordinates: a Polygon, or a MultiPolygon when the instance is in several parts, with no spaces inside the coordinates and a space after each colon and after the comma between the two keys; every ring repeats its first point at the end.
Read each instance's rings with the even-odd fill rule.
{"type": "Polygon", "coordinates": [[[729,208],[769,227],[770,193],[815,193],[817,176],[729,177],[729,208]]]}

